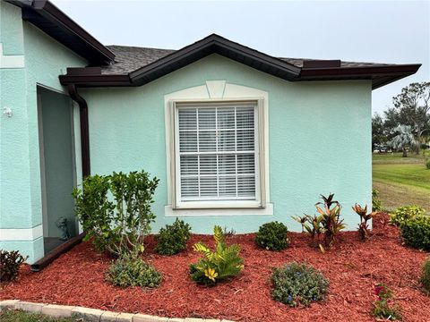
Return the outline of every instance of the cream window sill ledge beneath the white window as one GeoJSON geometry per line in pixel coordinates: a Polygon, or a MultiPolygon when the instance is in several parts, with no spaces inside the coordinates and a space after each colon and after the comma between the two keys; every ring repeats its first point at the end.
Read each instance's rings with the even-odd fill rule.
{"type": "Polygon", "coordinates": [[[164,207],[164,216],[271,216],[273,204],[266,204],[266,208],[178,208],[171,205],[164,207]]]}

